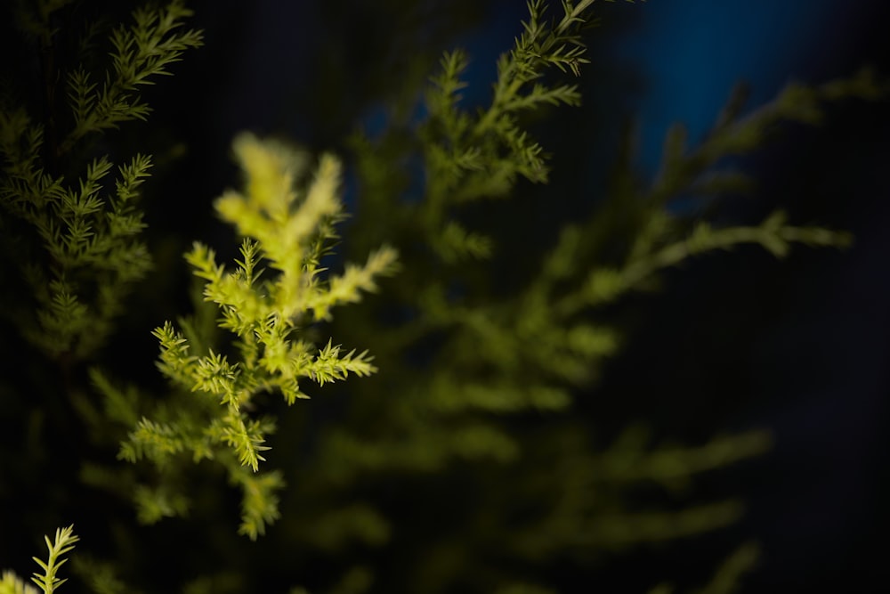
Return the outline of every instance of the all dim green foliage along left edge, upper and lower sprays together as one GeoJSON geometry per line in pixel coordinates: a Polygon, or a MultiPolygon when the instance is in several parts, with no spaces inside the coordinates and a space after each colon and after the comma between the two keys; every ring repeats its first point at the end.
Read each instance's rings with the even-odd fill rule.
{"type": "MultiPolygon", "coordinates": [[[[100,82],[83,63],[67,71],[54,66],[52,56],[65,49],[53,45],[55,23],[69,16],[67,4],[40,2],[36,12],[21,4],[16,12],[20,28],[36,37],[44,54],[44,88],[36,91],[44,96],[44,113],[17,105],[12,94],[0,102],[0,234],[6,257],[19,255],[10,260],[10,273],[36,303],[7,295],[13,305],[4,315],[49,356],[81,361],[105,344],[125,311],[125,297],[151,265],[137,207],[151,159],[137,154],[118,167],[105,155],[84,162],[92,152],[89,141],[146,118],[150,110],[140,87],[170,74],[167,67],[200,45],[201,36],[182,30],[191,14],[182,2],[139,9],[133,25],[111,32],[109,69],[100,82]]],[[[19,101],[27,99],[24,89],[20,93],[19,101]]]]}

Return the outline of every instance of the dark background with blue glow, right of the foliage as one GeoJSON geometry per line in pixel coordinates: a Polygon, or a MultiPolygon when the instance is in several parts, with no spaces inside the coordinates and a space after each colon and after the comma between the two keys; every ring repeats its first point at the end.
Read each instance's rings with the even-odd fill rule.
{"type": "MultiPolygon", "coordinates": [[[[817,83],[866,63],[886,75],[890,67],[882,2],[683,0],[638,11],[614,47],[641,66],[635,105],[646,167],[669,121],[686,122],[692,137],[707,129],[733,79],[747,79],[759,104],[791,79],[817,83]]],[[[737,420],[775,432],[765,472],[751,477],[748,522],[765,557],[746,591],[877,591],[884,581],[886,108],[830,110],[821,129],[792,128],[750,162],[762,191],[740,207],[742,217],[781,205],[792,221],[851,230],[854,248],[798,251],[777,264],[747,254],[716,258],[679,281],[684,289],[659,303],[659,329],[636,342],[661,378],[680,390],[695,386],[686,413],[730,398],[745,403],[737,420]],[[667,345],[676,349],[669,358],[667,345]]]]}

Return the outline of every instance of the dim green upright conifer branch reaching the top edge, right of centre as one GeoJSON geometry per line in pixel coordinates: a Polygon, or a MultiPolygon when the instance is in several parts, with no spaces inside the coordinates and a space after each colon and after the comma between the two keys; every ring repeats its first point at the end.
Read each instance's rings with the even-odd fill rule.
{"type": "Polygon", "coordinates": [[[440,72],[426,94],[429,119],[421,130],[426,168],[425,213],[421,219],[432,246],[448,262],[490,254],[475,232],[451,220],[451,207],[468,201],[505,197],[519,177],[535,183],[547,179],[543,147],[522,129],[523,113],[546,106],[578,105],[573,84],[543,82],[549,69],[576,77],[587,63],[580,29],[592,1],[562,3],[562,17],[546,19],[546,3],[528,3],[529,19],[513,49],[498,59],[498,77],[490,104],[476,114],[461,107],[465,53],[445,53],[440,72]]]}

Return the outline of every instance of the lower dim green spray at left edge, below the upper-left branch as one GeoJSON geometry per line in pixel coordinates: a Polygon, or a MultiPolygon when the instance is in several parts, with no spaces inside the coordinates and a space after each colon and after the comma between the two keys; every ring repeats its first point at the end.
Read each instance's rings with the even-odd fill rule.
{"type": "MultiPolygon", "coordinates": [[[[9,157],[8,148],[4,145],[9,157]]],[[[40,304],[36,320],[26,318],[22,333],[53,357],[70,353],[84,359],[102,346],[123,310],[125,290],[150,268],[148,250],[138,240],[142,214],[131,203],[150,160],[137,156],[121,167],[117,190],[103,199],[111,167],[107,159],[93,161],[77,191],[63,190],[61,180],[45,175],[38,180],[31,167],[28,176],[7,169],[9,181],[22,185],[4,188],[4,203],[33,225],[53,263],[49,270],[31,263],[22,270],[40,304]],[[86,303],[85,290],[91,296],[86,303]]]]}

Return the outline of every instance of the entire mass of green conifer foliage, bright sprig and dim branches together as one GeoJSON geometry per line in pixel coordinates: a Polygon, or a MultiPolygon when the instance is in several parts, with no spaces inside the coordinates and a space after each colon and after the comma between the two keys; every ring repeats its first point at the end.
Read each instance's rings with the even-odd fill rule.
{"type": "MultiPolygon", "coordinates": [[[[517,222],[514,209],[529,183],[548,180],[536,118],[580,102],[578,85],[563,80],[581,76],[590,60],[582,30],[593,4],[564,0],[559,12],[530,2],[478,109],[461,96],[469,58],[455,50],[425,89],[421,121],[353,135],[361,199],[338,253],[341,161],[323,154],[315,162],[252,134],[234,140],[242,189],[225,191],[215,208],[239,235],[239,255],[221,264],[201,242],[185,254],[197,281],[194,311],[151,332],[166,389],[118,381],[125,374],[113,362],[85,371],[90,387],[66,382],[90,452],[101,452],[80,460],[79,479],[133,503],[140,524],[207,508],[213,536],[196,538],[215,538],[228,481],[239,495],[237,532],[256,541],[250,546],[281,526],[265,539],[276,549],[223,536],[210,549],[238,563],[220,569],[214,558],[211,573],[199,575],[188,567],[183,591],[238,590],[253,577],[249,561],[286,550],[312,591],[544,594],[559,590],[554,568],[594,566],[741,516],[741,500],[697,486],[768,451],[768,432],[677,445],[643,422],[611,437],[602,419],[588,418],[585,401],[629,336],[616,311],[658,288],[667,269],[746,245],[784,257],[798,244],[850,244],[845,232],[791,224],[781,210],[725,224],[672,206],[689,195],[716,205],[749,190],[753,181],[725,169],[726,157],[756,151],[783,121],[818,123],[827,102],[886,89],[865,70],[828,85],[789,85],[743,118],[733,100],[698,146],[687,145],[682,126],[667,134],[652,183],[639,180],[623,147],[596,207],[548,235],[543,224],[517,222]],[[364,264],[331,272],[341,251],[364,264]],[[382,296],[366,296],[397,268],[382,296]],[[350,375],[363,379],[346,384],[350,375]],[[321,387],[329,397],[284,408],[321,387]],[[276,432],[283,455],[266,460],[276,432]]],[[[20,27],[52,49],[54,23],[69,8],[37,3],[22,9],[20,27]]],[[[134,24],[110,32],[104,69],[59,73],[65,97],[48,105],[64,101],[68,118],[0,109],[0,241],[28,289],[24,298],[4,296],[5,314],[63,365],[100,352],[126,313],[127,292],[150,271],[137,201],[151,160],[136,154],[115,167],[90,142],[148,116],[142,85],[201,43],[182,28],[189,16],[181,2],[137,10],[134,24]]],[[[58,97],[54,87],[44,91],[58,97]]],[[[95,591],[132,591],[123,579],[150,557],[150,532],[109,524],[130,565],[118,573],[114,561],[85,557],[75,569],[95,591]]],[[[55,573],[77,541],[71,530],[47,539],[49,560],[37,561],[44,592],[64,582],[55,573]]],[[[731,592],[756,556],[754,545],[737,549],[700,593],[731,592]]],[[[36,591],[11,573],[0,589],[36,591]]],[[[652,591],[674,590],[665,583],[652,591]]]]}

